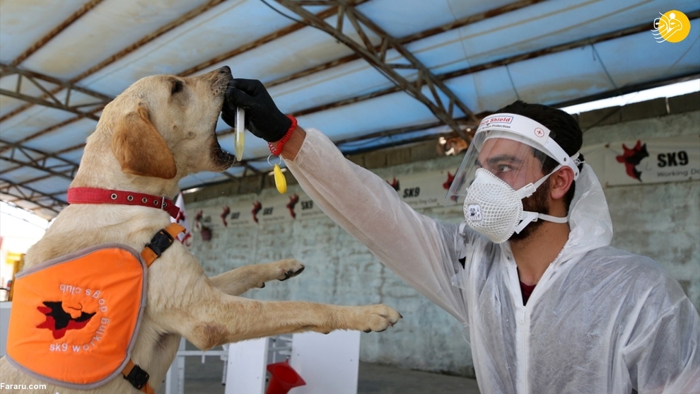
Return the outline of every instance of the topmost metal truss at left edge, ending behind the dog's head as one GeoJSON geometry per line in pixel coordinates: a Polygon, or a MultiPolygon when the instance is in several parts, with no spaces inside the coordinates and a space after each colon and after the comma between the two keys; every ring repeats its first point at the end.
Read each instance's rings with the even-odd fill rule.
{"type": "Polygon", "coordinates": [[[53,78],[52,76],[46,76],[33,71],[19,69],[18,67],[11,66],[10,64],[0,64],[0,78],[5,78],[11,75],[17,76],[15,89],[11,91],[0,88],[0,95],[17,98],[18,100],[24,100],[33,104],[44,105],[45,107],[73,112],[76,115],[87,117],[92,120],[99,120],[100,117],[94,115],[91,113],[91,111],[83,111],[81,108],[95,106],[103,107],[112,101],[112,98],[107,95],[91,91],[90,89],[81,88],[80,86],[75,86],[72,83],[61,81],[60,79],[53,78]],[[25,80],[33,83],[33,85],[36,86],[43,94],[40,95],[40,97],[35,97],[25,93],[25,89],[22,88],[22,83],[25,80]],[[65,93],[62,95],[62,98],[57,97],[55,94],[59,91],[65,93]],[[71,104],[71,93],[74,91],[88,95],[95,100],[91,103],[78,105],[71,104]]]}

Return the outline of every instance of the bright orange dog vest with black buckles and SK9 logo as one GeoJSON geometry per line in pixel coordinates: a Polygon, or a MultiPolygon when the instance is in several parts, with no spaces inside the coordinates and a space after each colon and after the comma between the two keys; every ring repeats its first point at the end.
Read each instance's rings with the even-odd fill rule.
{"type": "MultiPolygon", "coordinates": [[[[182,230],[171,224],[140,255],[127,245],[96,245],[18,273],[8,361],[30,376],[68,388],[102,386],[119,373],[127,378],[134,370],[131,351],[146,306],[146,268],[182,230]]],[[[138,384],[127,380],[150,388],[148,373],[136,367],[136,374],[141,374],[138,384]]]]}

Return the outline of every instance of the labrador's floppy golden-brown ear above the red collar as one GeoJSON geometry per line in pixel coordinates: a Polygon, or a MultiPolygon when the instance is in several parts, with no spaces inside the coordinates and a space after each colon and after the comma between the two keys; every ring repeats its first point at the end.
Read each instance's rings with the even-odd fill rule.
{"type": "Polygon", "coordinates": [[[177,173],[173,153],[148,120],[148,110],[143,106],[117,122],[112,151],[124,173],[164,179],[173,179],[177,173]]]}

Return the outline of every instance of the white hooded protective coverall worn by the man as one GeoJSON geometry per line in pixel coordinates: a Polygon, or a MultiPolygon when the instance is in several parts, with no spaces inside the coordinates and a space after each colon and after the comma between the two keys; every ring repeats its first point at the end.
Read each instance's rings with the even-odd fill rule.
{"type": "Polygon", "coordinates": [[[609,246],[612,222],[589,166],[576,181],[568,242],[523,306],[508,242],[415,212],[321,132],[306,132],[286,161],[291,173],[331,219],[460,320],[483,394],[699,392],[699,315],[660,265],[609,246]]]}

